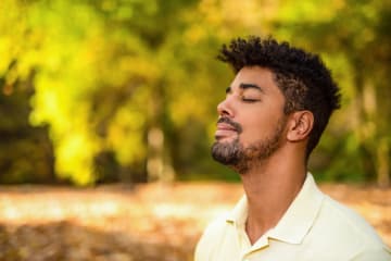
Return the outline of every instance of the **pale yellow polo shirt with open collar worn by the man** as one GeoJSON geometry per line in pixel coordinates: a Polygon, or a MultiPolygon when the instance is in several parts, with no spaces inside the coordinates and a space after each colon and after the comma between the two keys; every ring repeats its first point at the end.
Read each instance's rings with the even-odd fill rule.
{"type": "Polygon", "coordinates": [[[391,261],[374,228],[316,186],[308,173],[278,224],[254,245],[244,232],[245,196],[205,229],[195,261],[391,261]]]}

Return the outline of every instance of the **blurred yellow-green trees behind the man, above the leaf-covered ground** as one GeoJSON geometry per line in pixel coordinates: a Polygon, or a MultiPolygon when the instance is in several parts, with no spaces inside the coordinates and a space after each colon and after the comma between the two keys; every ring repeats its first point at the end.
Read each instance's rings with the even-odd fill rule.
{"type": "Polygon", "coordinates": [[[343,89],[312,166],[386,185],[390,24],[389,3],[364,0],[3,0],[0,86],[29,90],[0,101],[30,108],[29,123],[49,132],[60,179],[237,178],[209,153],[234,76],[215,57],[232,37],[273,33],[321,51],[343,89]]]}

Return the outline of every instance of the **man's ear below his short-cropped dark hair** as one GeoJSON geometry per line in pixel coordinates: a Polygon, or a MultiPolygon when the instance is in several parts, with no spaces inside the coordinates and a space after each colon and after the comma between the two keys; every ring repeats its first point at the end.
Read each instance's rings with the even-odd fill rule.
{"type": "Polygon", "coordinates": [[[287,139],[300,141],[308,137],[314,126],[314,114],[311,111],[297,111],[291,114],[287,139]]]}

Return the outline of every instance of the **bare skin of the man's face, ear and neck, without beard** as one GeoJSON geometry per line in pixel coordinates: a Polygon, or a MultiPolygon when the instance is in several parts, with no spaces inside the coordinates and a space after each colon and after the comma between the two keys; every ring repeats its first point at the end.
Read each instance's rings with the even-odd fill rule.
{"type": "Polygon", "coordinates": [[[273,72],[251,66],[238,72],[226,99],[217,107],[219,116],[239,124],[241,132],[227,123],[218,123],[216,142],[239,139],[244,148],[267,142],[283,122],[278,148],[266,158],[254,158],[247,171],[239,173],[249,201],[245,232],[251,244],[278,223],[306,175],[305,147],[313,127],[313,114],[297,111],[286,115],[283,105],[285,97],[273,72]]]}

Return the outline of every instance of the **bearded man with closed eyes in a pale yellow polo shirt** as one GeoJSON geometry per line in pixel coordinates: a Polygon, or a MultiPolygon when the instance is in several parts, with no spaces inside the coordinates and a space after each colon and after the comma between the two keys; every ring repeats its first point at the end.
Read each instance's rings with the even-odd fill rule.
{"type": "Polygon", "coordinates": [[[206,228],[195,261],[391,260],[373,227],[307,172],[340,105],[320,59],[258,37],[232,40],[218,58],[237,74],[217,107],[212,156],[240,174],[245,196],[206,228]]]}

